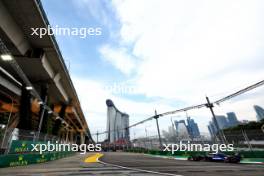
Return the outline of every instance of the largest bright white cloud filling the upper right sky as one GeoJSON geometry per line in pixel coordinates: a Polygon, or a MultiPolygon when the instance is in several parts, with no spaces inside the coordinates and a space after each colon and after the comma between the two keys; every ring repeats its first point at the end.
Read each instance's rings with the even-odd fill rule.
{"type": "Polygon", "coordinates": [[[120,43],[141,58],[135,84],[148,96],[198,102],[263,79],[263,1],[114,0],[120,43]],[[216,74],[218,73],[218,74],[216,74]],[[239,79],[243,77],[244,79],[239,79]]]}

